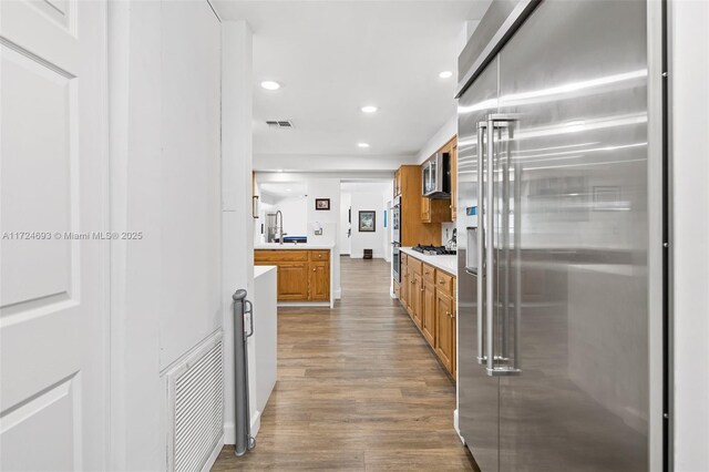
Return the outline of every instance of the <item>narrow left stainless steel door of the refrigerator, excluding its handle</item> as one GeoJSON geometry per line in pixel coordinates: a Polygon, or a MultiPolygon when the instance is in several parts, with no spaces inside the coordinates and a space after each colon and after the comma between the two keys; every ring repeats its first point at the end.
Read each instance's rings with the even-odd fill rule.
{"type": "Polygon", "coordinates": [[[469,249],[467,228],[477,226],[477,217],[472,216],[472,207],[477,206],[480,178],[477,123],[496,110],[497,60],[495,59],[461,96],[458,122],[458,414],[465,444],[483,471],[497,470],[500,382],[497,378],[489,377],[485,367],[477,363],[477,277],[465,271],[465,260],[469,249]]]}

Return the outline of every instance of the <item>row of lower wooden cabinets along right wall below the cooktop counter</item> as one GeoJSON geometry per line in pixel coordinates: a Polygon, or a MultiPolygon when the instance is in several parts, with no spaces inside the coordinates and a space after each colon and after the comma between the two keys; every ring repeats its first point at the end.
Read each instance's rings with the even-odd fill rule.
{"type": "Polygon", "coordinates": [[[455,379],[455,277],[423,264],[413,256],[401,266],[401,284],[394,294],[411,320],[455,379]]]}

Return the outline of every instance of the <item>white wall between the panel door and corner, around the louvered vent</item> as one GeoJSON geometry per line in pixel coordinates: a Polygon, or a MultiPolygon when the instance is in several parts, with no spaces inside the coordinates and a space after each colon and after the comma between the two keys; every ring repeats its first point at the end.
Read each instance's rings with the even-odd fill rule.
{"type": "Polygon", "coordinates": [[[161,372],[222,328],[220,30],[206,1],[109,9],[111,225],[145,234],[111,248],[110,462],[165,470],[161,372]]]}

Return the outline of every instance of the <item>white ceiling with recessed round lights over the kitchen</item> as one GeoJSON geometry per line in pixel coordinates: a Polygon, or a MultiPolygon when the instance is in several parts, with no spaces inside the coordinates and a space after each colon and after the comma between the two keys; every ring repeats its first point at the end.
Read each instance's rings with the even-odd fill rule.
{"type": "Polygon", "coordinates": [[[215,4],[224,20],[246,20],[254,32],[254,166],[267,171],[279,162],[308,168],[308,157],[350,168],[361,158],[364,168],[372,158],[415,155],[455,113],[465,21],[482,18],[490,0],[215,4]],[[453,78],[440,79],[445,70],[453,78]],[[282,88],[265,91],[264,80],[282,88]],[[380,111],[360,112],[366,104],[380,111]],[[291,120],[295,129],[269,129],[266,120],[291,120]]]}

